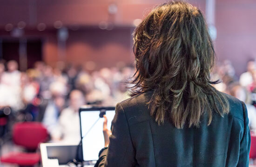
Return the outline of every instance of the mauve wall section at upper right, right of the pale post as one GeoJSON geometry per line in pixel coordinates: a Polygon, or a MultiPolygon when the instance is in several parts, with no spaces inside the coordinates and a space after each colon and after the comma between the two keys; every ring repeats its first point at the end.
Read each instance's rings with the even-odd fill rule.
{"type": "Polygon", "coordinates": [[[255,0],[216,0],[216,54],[219,60],[231,60],[238,74],[256,58],[255,18],[255,0]]]}

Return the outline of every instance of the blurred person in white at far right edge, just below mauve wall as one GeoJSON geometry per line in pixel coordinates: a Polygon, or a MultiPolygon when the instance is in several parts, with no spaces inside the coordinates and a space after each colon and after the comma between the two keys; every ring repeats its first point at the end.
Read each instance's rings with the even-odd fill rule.
{"type": "Polygon", "coordinates": [[[255,60],[249,60],[247,63],[247,71],[241,74],[239,83],[241,86],[246,87],[253,82],[252,72],[256,70],[255,60]]]}

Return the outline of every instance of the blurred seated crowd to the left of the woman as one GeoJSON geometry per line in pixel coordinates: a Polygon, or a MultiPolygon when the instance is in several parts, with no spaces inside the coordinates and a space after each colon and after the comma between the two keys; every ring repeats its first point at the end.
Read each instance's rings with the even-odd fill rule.
{"type": "MultiPolygon", "coordinates": [[[[33,69],[21,72],[14,60],[0,63],[0,117],[8,117],[9,124],[42,122],[53,141],[78,142],[79,107],[115,106],[125,100],[133,74],[133,67],[88,72],[86,66],[62,62],[55,68],[37,62],[33,69]]],[[[0,127],[0,136],[6,131],[0,127]]]]}

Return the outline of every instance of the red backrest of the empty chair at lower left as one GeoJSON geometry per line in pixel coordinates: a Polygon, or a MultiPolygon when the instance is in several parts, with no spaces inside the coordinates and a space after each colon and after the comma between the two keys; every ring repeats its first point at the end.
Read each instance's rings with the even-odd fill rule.
{"type": "Polygon", "coordinates": [[[35,150],[47,138],[47,129],[40,122],[21,122],[13,126],[13,142],[29,150],[35,150]]]}

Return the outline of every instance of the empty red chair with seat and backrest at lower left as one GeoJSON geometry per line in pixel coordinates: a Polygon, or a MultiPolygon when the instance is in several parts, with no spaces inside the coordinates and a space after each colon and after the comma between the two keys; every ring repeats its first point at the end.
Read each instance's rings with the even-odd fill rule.
{"type": "Polygon", "coordinates": [[[13,126],[13,142],[23,146],[29,153],[12,152],[0,158],[2,163],[17,164],[19,166],[34,166],[40,161],[40,154],[33,153],[40,142],[48,138],[47,129],[40,122],[22,122],[13,126]]]}

